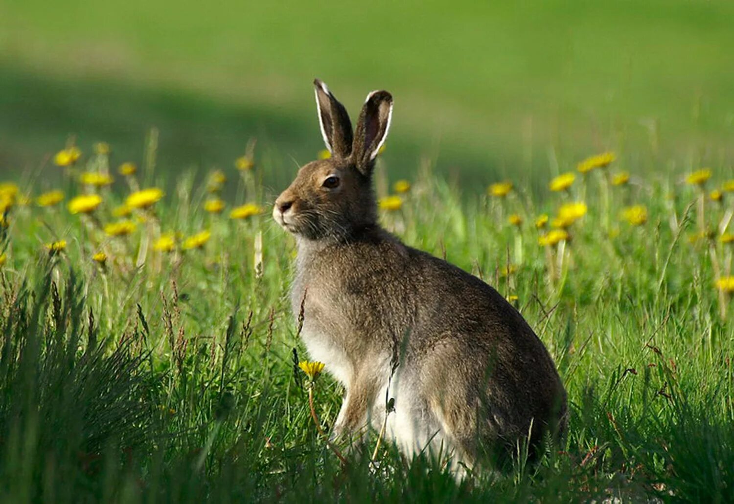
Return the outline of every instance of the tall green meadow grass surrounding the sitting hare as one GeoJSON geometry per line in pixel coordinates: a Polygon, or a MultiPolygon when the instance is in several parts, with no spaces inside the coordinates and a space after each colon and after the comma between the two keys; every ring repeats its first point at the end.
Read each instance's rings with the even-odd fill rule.
{"type": "MultiPolygon", "coordinates": [[[[103,205],[81,216],[66,203],[22,205],[44,177],[21,184],[0,242],[2,500],[732,500],[734,310],[714,282],[730,274],[732,245],[721,236],[733,194],[726,204],[708,200],[731,173],[715,170],[705,191],[682,182],[686,172],[635,170],[631,183],[610,186],[608,172],[637,167],[631,156],[543,197],[518,183],[488,197],[427,166],[414,173],[382,222],[512,299],[569,392],[562,446],[537,464],[520,450],[506,474],[459,484],[389,445],[371,470],[374,436],[342,467],[317,434],[294,366],[305,351],[286,295],[293,240],[267,210],[228,218],[233,205],[272,201],[260,182],[271,167],[260,156],[255,150],[254,172],[225,171],[234,190],[220,215],[203,211],[212,196],[193,172],[171,180],[149,162],[135,182],[174,189],[136,211],[137,229],[116,238],[103,225],[132,179],[97,189],[103,205]],[[534,219],[578,201],[587,210],[569,237],[539,246],[545,231],[534,219]],[[620,217],[632,204],[645,205],[646,222],[620,217]],[[512,213],[523,223],[509,224],[512,213]],[[181,249],[202,230],[211,237],[201,248],[181,249]],[[180,233],[176,249],[154,250],[169,231],[180,233]],[[58,252],[44,246],[61,240],[58,252]],[[104,265],[92,260],[99,251],[104,265]]],[[[79,170],[105,171],[108,161],[86,156],[42,173],[65,174],[68,202],[81,192],[79,170]]],[[[388,174],[380,159],[382,195],[395,180],[388,174]]],[[[328,429],[341,390],[327,376],[315,387],[328,429]]]]}

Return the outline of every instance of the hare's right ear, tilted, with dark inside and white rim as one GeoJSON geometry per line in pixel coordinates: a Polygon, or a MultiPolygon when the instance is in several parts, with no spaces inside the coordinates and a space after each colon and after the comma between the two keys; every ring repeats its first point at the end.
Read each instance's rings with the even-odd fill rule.
{"type": "Polygon", "coordinates": [[[373,91],[367,95],[352,145],[352,159],[365,175],[371,172],[377,151],[388,137],[392,117],[393,95],[387,91],[373,91]]]}

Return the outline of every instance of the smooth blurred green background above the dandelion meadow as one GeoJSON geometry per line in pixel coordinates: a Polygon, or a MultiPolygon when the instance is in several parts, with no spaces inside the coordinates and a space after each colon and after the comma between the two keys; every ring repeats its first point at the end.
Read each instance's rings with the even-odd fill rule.
{"type": "Polygon", "coordinates": [[[281,185],[322,148],[316,76],[353,118],[393,92],[396,176],[544,186],[606,149],[730,168],[733,26],[730,0],[2,0],[0,169],[37,174],[70,134],[140,161],[156,126],[160,167],[230,168],[256,136],[281,185]]]}

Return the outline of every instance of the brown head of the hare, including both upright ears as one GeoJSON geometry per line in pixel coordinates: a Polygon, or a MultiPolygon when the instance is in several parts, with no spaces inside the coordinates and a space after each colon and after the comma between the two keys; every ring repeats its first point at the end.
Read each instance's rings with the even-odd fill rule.
{"type": "Polygon", "coordinates": [[[295,235],[310,240],[348,238],[377,220],[372,170],[385,142],[393,112],[387,91],[367,95],[352,132],[344,106],[316,79],[316,107],[328,159],[311,161],[275,200],[273,218],[295,235]]]}

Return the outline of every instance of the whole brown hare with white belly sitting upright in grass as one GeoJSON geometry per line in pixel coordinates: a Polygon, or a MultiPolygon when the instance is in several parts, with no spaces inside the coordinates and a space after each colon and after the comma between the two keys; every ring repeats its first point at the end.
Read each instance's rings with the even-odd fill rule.
{"type": "Polygon", "coordinates": [[[331,157],[299,169],[273,217],[297,241],[291,304],[303,310],[308,353],[346,390],[333,434],[386,421],[405,456],[428,450],[472,467],[528,435],[537,446],[545,431],[562,433],[566,392],[520,313],[479,278],[380,227],[371,178],[392,95],[369,93],[352,131],[344,106],[314,85],[331,157]]]}

